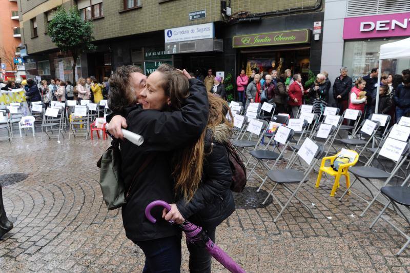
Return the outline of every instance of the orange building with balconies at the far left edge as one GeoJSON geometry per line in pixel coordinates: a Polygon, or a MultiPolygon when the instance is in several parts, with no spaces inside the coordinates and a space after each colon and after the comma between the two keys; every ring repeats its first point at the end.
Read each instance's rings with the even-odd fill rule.
{"type": "Polygon", "coordinates": [[[24,64],[21,59],[18,46],[22,42],[17,1],[0,0],[2,14],[0,16],[0,78],[13,79],[24,77],[24,64]],[[15,60],[15,58],[17,58],[15,60]]]}

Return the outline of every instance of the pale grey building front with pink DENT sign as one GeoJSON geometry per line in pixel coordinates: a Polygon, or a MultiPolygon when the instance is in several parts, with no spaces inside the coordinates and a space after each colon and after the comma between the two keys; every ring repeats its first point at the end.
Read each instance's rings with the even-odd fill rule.
{"type": "MultiPolygon", "coordinates": [[[[323,24],[321,69],[333,82],[346,66],[356,81],[379,66],[380,45],[410,37],[410,1],[326,0],[323,24]]],[[[400,74],[410,61],[383,60],[382,68],[400,74]]]]}

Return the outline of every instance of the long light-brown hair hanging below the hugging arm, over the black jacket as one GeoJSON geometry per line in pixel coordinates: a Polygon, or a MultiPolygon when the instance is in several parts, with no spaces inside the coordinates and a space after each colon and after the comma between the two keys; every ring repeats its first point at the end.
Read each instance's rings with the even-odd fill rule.
{"type": "Polygon", "coordinates": [[[181,193],[186,202],[189,202],[199,187],[202,179],[203,162],[206,152],[204,150],[207,130],[215,131],[219,124],[233,127],[233,116],[226,101],[208,92],[209,118],[207,127],[202,131],[196,143],[186,147],[174,156],[176,162],[174,167],[175,192],[181,193]],[[227,113],[231,121],[227,119],[227,113]]]}

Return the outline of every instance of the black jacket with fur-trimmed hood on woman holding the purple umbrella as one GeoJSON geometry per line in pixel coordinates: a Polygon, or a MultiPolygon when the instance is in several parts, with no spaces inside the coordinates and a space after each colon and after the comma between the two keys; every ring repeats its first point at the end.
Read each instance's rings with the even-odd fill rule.
{"type": "Polygon", "coordinates": [[[204,149],[208,155],[203,164],[202,181],[188,203],[183,198],[176,203],[183,218],[205,229],[216,228],[235,210],[230,190],[231,167],[224,145],[229,142],[231,133],[232,129],[223,124],[216,126],[215,132],[207,131],[204,149]]]}

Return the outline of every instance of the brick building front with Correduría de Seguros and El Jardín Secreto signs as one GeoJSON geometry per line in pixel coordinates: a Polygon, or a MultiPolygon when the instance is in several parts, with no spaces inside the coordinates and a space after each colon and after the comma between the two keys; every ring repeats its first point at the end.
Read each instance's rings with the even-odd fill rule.
{"type": "Polygon", "coordinates": [[[71,79],[72,57],[59,52],[45,33],[47,21],[63,3],[66,8],[77,6],[80,15],[94,24],[97,49],[79,58],[77,77],[102,80],[116,67],[129,64],[150,74],[164,62],[193,72],[212,68],[232,75],[241,68],[318,72],[322,44],[313,28],[323,20],[322,2],[21,1],[26,70],[46,79],[71,79]]]}

